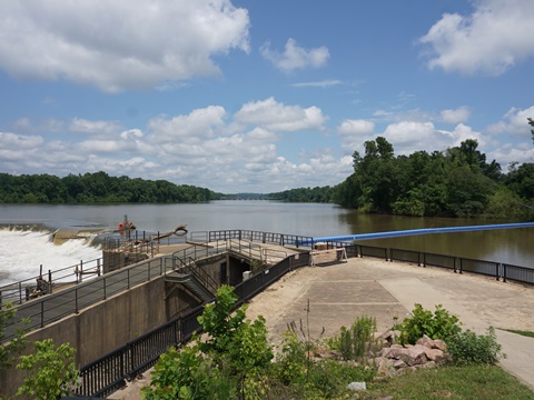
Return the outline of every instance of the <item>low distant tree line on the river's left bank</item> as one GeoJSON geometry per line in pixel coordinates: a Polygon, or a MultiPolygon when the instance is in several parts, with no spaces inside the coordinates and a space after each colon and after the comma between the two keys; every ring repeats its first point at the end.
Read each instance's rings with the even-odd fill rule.
{"type": "Polygon", "coordinates": [[[165,180],[110,177],[106,172],[10,176],[0,173],[0,203],[201,202],[220,193],[165,180]]]}

